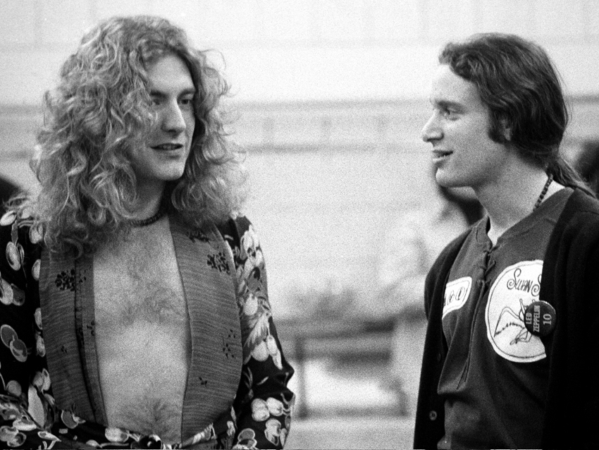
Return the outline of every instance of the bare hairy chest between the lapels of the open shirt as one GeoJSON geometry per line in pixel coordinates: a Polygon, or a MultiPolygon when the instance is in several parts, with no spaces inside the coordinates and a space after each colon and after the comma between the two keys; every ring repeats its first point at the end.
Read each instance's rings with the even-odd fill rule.
{"type": "Polygon", "coordinates": [[[191,344],[166,220],[95,255],[94,314],[109,425],[177,442],[191,344]]]}

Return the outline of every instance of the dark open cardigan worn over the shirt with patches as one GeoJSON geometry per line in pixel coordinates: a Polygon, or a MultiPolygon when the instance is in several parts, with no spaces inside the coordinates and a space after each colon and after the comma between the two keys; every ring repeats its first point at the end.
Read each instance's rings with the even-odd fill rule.
{"type": "MultiPolygon", "coordinates": [[[[437,395],[447,354],[441,317],[447,277],[468,232],[452,241],[428,272],[428,329],[420,378],[414,448],[436,449],[445,434],[444,399],[437,395]]],[[[557,315],[542,339],[550,363],[543,448],[595,448],[599,442],[599,201],[574,190],[543,259],[541,300],[557,315]]]]}

